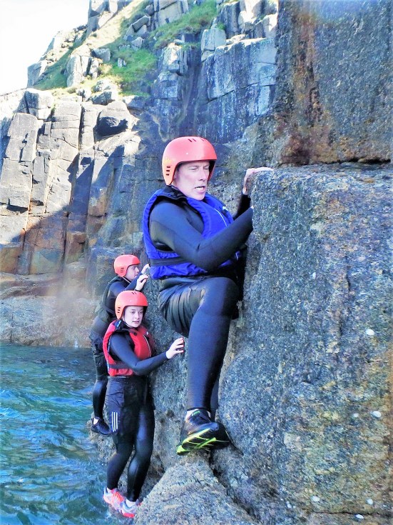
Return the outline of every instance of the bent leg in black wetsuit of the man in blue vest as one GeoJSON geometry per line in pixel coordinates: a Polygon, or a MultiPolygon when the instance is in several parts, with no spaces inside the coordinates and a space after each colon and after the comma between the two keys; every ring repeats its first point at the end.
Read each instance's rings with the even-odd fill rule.
{"type": "Polygon", "coordinates": [[[238,286],[227,277],[178,284],[158,296],[168,324],[188,337],[188,410],[218,408],[218,379],[238,297],[238,286]]]}

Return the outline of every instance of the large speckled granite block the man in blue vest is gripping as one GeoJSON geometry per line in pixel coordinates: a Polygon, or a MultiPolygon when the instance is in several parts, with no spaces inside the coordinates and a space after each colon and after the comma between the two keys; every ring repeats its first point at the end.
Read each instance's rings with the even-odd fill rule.
{"type": "Polygon", "coordinates": [[[387,511],[391,175],[277,170],[252,193],[255,266],[221,386],[241,474],[220,459],[261,520],[387,511]]]}

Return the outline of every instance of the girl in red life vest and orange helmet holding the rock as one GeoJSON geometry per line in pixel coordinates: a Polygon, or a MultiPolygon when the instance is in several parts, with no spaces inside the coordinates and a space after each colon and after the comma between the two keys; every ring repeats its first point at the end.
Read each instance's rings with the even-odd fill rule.
{"type": "Polygon", "coordinates": [[[153,339],[142,326],[148,301],[140,291],[122,291],[116,298],[113,321],[103,338],[108,363],[106,394],[109,424],[116,451],[108,461],[103,499],[123,516],[133,518],[140,501],[153,451],[154,411],[148,374],[184,351],[183,337],[162,354],[153,355],[153,339]],[[128,459],[126,498],[118,481],[128,459]]]}

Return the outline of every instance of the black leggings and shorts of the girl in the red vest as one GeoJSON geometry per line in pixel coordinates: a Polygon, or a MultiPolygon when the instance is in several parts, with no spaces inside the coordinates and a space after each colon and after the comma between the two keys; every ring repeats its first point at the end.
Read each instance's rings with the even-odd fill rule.
{"type": "Polygon", "coordinates": [[[142,378],[131,385],[126,379],[111,381],[108,389],[109,424],[116,452],[108,461],[107,486],[116,489],[128,459],[127,498],[136,501],[148,474],[154,439],[154,409],[142,378]],[[127,382],[127,384],[126,384],[127,382]],[[139,383],[139,384],[138,384],[139,383]]]}

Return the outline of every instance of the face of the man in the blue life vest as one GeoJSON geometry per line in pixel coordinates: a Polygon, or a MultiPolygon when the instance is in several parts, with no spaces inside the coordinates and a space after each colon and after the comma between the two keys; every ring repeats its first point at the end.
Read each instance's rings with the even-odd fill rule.
{"type": "Polygon", "coordinates": [[[186,197],[202,201],[208,190],[209,173],[209,161],[183,162],[175,170],[172,184],[186,197]]]}

